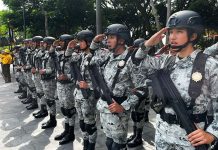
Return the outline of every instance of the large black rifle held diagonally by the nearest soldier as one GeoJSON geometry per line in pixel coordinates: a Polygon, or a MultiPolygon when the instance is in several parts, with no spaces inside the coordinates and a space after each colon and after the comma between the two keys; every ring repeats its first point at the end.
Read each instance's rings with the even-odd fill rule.
{"type": "MultiPolygon", "coordinates": [[[[155,94],[157,94],[159,98],[166,100],[166,102],[173,108],[180,120],[181,126],[185,129],[187,134],[197,130],[187,111],[184,100],[170,78],[169,71],[163,69],[158,70],[152,76],[152,87],[155,94]]],[[[200,145],[195,148],[196,150],[207,150],[207,145],[200,145]]]]}

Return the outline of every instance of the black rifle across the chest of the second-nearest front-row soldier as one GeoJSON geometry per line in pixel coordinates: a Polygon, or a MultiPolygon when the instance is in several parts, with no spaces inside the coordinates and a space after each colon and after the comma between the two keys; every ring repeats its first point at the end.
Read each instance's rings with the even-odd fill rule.
{"type": "Polygon", "coordinates": [[[95,80],[95,83],[98,85],[100,89],[100,94],[102,99],[107,101],[107,104],[110,105],[113,103],[112,100],[112,92],[107,86],[103,76],[100,74],[99,69],[96,64],[89,65],[89,70],[91,70],[92,77],[95,80]]]}

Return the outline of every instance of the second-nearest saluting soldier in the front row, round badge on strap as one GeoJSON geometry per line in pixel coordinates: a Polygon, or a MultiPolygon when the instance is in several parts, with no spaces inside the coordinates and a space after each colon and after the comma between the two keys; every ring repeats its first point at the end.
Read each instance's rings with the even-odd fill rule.
{"type": "Polygon", "coordinates": [[[91,63],[104,62],[102,74],[113,98],[110,105],[103,96],[97,102],[108,150],[126,149],[130,111],[138,102],[138,97],[130,92],[134,86],[130,77],[132,68],[128,62],[131,51],[126,47],[129,41],[128,28],[122,24],[112,24],[107,27],[105,34],[97,35],[90,46],[96,53],[91,63]],[[103,51],[99,46],[105,35],[109,51],[102,56],[103,51]]]}

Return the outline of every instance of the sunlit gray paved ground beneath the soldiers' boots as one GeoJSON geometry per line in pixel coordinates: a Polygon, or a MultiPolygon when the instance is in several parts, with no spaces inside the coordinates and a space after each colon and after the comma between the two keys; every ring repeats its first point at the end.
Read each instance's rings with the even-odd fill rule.
{"type": "MultiPolygon", "coordinates": [[[[34,119],[32,116],[34,111],[26,110],[25,105],[17,98],[18,95],[13,93],[16,89],[17,84],[14,81],[5,84],[0,75],[0,150],[82,150],[78,121],[75,127],[74,143],[59,146],[53,139],[63,130],[63,117],[60,113],[57,115],[56,128],[42,130],[41,124],[47,121],[48,117],[34,119]]],[[[143,132],[143,146],[131,150],[154,150],[155,114],[152,111],[149,118],[150,122],[145,125],[143,132]]],[[[132,133],[131,124],[130,122],[129,135],[132,133]]],[[[104,140],[105,136],[98,126],[96,150],[106,150],[104,140]]]]}

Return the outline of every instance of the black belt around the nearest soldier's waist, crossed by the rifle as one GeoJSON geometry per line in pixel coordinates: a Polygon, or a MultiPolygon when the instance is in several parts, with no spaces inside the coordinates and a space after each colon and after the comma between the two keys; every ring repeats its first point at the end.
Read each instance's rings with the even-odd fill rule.
{"type": "MultiPolygon", "coordinates": [[[[163,121],[166,121],[168,124],[181,125],[180,119],[177,117],[177,115],[172,115],[172,114],[166,113],[165,111],[162,111],[160,113],[160,117],[163,121]]],[[[202,113],[202,114],[191,114],[190,117],[191,117],[190,119],[194,123],[206,122],[207,112],[202,113]]]]}

